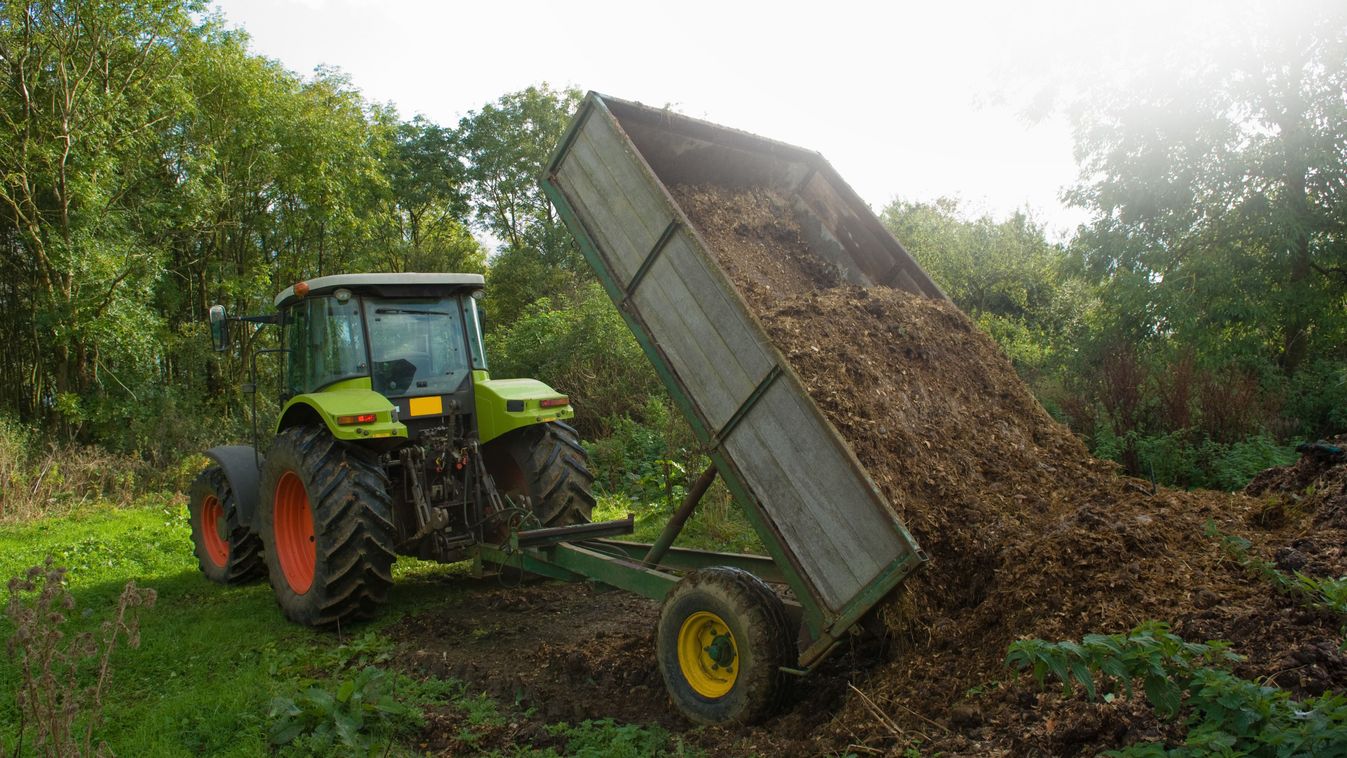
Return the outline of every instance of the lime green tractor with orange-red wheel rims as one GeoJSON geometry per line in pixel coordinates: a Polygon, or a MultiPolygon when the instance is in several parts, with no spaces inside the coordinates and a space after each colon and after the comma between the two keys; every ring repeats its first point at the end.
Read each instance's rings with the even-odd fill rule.
{"type": "MultiPolygon", "coordinates": [[[[300,281],[276,312],[210,308],[216,350],[230,324],[271,324],[284,361],[265,455],[206,451],[190,490],[202,574],[265,575],[284,614],[331,627],[388,598],[396,556],[453,563],[523,530],[583,530],[593,475],[570,399],[529,378],[493,380],[475,273],[352,273],[300,281]]],[[[259,327],[260,329],[260,327],[259,327]]],[[[256,409],[256,405],[255,405],[256,409]]]]}

